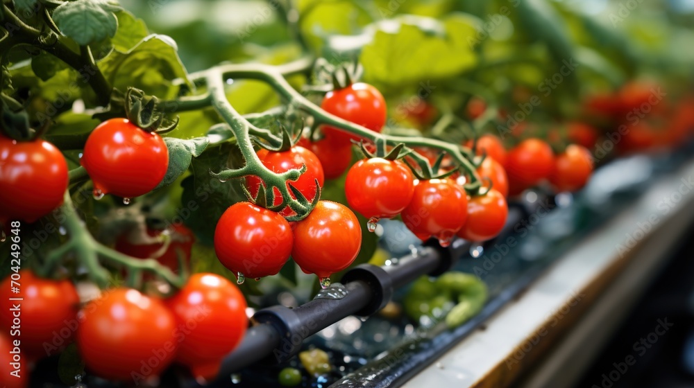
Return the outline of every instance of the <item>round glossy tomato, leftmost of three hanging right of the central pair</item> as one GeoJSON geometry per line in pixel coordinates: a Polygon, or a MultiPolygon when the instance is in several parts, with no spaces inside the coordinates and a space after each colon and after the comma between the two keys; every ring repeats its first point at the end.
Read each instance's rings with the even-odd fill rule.
{"type": "Polygon", "coordinates": [[[362,159],[350,168],[345,182],[347,202],[366,218],[392,218],[412,200],[414,177],[400,161],[362,159]]]}

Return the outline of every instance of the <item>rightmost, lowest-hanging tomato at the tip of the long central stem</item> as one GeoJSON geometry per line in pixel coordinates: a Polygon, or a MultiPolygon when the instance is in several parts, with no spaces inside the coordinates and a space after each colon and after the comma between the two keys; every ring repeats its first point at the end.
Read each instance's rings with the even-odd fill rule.
{"type": "Polygon", "coordinates": [[[492,188],[468,201],[468,218],[457,234],[468,241],[491,240],[504,229],[508,215],[506,198],[492,188]]]}

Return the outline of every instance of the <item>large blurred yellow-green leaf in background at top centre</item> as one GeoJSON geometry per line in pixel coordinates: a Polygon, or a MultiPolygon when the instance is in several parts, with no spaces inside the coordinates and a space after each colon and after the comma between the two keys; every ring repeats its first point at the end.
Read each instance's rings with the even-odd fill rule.
{"type": "Polygon", "coordinates": [[[413,85],[473,67],[477,59],[468,38],[477,33],[474,20],[464,15],[448,17],[439,34],[404,23],[396,33],[377,31],[360,58],[364,78],[384,85],[413,85]]]}

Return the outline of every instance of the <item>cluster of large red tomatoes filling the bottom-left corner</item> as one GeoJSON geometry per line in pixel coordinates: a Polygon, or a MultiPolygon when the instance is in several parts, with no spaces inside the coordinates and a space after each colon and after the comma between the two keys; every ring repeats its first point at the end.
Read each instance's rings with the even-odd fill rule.
{"type": "MultiPolygon", "coordinates": [[[[0,335],[0,349],[20,340],[23,357],[37,360],[76,340],[90,371],[111,380],[137,384],[171,362],[189,367],[196,377],[213,378],[248,326],[243,294],[215,274],[194,274],[168,299],[113,288],[82,308],[70,281],[41,279],[28,270],[20,274],[19,294],[10,294],[9,277],[0,283],[4,300],[23,298],[21,326],[9,332],[12,338],[0,335]]],[[[14,314],[3,308],[0,326],[10,328],[14,314]]],[[[8,387],[26,384],[12,381],[8,387]]]]}

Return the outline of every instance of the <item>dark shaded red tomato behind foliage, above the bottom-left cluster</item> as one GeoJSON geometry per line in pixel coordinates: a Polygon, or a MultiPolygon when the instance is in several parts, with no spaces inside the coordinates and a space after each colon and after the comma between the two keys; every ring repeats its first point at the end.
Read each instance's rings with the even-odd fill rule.
{"type": "MultiPolygon", "coordinates": [[[[161,236],[164,230],[147,228],[147,236],[161,236]]],[[[167,232],[169,233],[169,232],[167,232]]],[[[193,231],[181,224],[174,224],[169,234],[169,245],[164,249],[164,243],[137,244],[130,240],[132,236],[124,233],[116,240],[115,249],[118,252],[136,258],[155,258],[159,263],[178,273],[178,252],[183,254],[185,263],[190,263],[190,254],[195,235],[193,231]]]]}

